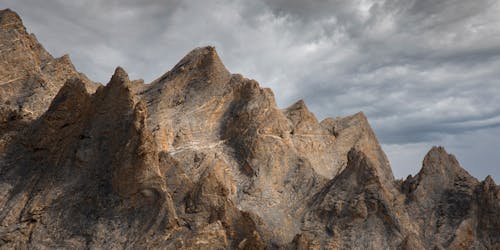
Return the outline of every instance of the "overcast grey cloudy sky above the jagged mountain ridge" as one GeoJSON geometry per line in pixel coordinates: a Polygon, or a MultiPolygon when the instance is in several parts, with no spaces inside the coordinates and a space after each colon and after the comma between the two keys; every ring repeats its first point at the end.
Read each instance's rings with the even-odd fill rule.
{"type": "Polygon", "coordinates": [[[214,45],[233,73],[304,99],[319,119],[363,111],[396,177],[443,145],[500,181],[500,0],[3,0],[54,56],[106,83],[146,82],[214,45]]]}

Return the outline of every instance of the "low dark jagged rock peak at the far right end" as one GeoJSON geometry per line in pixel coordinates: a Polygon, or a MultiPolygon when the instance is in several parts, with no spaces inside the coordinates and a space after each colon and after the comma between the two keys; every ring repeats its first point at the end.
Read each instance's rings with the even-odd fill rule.
{"type": "Polygon", "coordinates": [[[491,177],[477,181],[444,148],[433,147],[401,189],[426,248],[500,247],[498,186],[491,177]]]}

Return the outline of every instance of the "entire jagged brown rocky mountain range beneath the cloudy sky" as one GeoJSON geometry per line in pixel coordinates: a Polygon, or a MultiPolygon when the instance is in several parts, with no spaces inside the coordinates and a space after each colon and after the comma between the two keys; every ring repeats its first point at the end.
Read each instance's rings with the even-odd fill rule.
{"type": "Polygon", "coordinates": [[[396,181],[362,113],[280,110],[213,47],[102,86],[0,28],[0,249],[500,248],[500,187],[443,148],[396,181]]]}

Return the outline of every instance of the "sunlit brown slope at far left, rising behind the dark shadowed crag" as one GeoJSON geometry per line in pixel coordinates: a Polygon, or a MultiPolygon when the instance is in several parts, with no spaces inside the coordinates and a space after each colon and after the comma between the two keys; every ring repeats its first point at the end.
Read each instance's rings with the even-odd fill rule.
{"type": "Polygon", "coordinates": [[[53,58],[9,9],[0,11],[0,51],[0,123],[39,117],[70,78],[95,90],[68,55],[53,58]]]}

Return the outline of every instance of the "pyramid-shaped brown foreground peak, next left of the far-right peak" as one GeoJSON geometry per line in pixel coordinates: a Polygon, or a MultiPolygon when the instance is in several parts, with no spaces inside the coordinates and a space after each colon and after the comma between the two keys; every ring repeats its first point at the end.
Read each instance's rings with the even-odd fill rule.
{"type": "Polygon", "coordinates": [[[350,150],[346,169],[310,201],[303,229],[314,232],[323,247],[395,249],[411,232],[404,225],[406,211],[394,204],[398,200],[385,189],[375,164],[350,150]]]}

